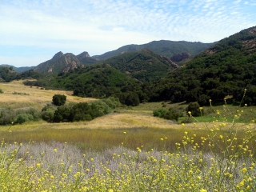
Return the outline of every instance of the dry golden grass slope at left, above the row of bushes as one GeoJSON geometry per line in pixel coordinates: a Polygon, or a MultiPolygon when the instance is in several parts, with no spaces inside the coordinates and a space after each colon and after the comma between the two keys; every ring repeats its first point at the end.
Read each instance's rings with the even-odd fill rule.
{"type": "Polygon", "coordinates": [[[0,95],[0,107],[36,107],[41,110],[46,103],[52,102],[54,94],[66,95],[66,102],[90,102],[95,100],[94,98],[78,98],[72,96],[72,92],[65,90],[40,90],[35,86],[30,88],[30,86],[24,86],[22,82],[24,80],[0,83],[0,88],[4,91],[0,95]],[[14,92],[22,94],[13,94],[14,92]]]}

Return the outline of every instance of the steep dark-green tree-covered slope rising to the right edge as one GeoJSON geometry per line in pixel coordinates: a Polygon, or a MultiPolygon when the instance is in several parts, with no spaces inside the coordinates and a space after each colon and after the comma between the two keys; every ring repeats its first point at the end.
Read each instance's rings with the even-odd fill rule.
{"type": "Polygon", "coordinates": [[[182,69],[171,72],[151,87],[152,100],[198,101],[205,105],[211,98],[221,101],[232,95],[256,104],[256,26],[224,38],[182,69]]]}

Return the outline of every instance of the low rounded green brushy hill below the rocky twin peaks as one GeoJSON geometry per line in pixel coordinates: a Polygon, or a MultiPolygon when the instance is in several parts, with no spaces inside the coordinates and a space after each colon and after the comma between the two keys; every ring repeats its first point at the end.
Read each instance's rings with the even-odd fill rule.
{"type": "Polygon", "coordinates": [[[74,95],[81,97],[105,98],[112,95],[122,103],[126,103],[127,97],[135,97],[138,103],[147,97],[142,92],[141,82],[106,64],[78,67],[55,77],[24,83],[27,86],[73,90],[74,95]]]}

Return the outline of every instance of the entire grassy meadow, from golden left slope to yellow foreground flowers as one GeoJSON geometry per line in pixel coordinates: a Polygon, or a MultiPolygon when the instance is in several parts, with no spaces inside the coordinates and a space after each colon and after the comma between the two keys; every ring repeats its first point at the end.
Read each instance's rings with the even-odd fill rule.
{"type": "MultiPolygon", "coordinates": [[[[22,81],[0,88],[0,108],[40,111],[54,94],[94,101],[22,81]]],[[[142,103],[90,122],[0,126],[0,191],[255,191],[256,108],[203,106],[206,115],[182,124],[186,106],[142,103]],[[179,122],[153,116],[170,107],[184,110],[179,122]]]]}

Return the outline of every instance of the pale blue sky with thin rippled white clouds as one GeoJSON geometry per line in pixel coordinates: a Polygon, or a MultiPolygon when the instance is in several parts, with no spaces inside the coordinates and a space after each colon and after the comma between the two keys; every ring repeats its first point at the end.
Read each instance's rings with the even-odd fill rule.
{"type": "Polygon", "coordinates": [[[256,0],[0,0],[0,64],[162,39],[216,42],[256,26],[255,10],[256,0]]]}

